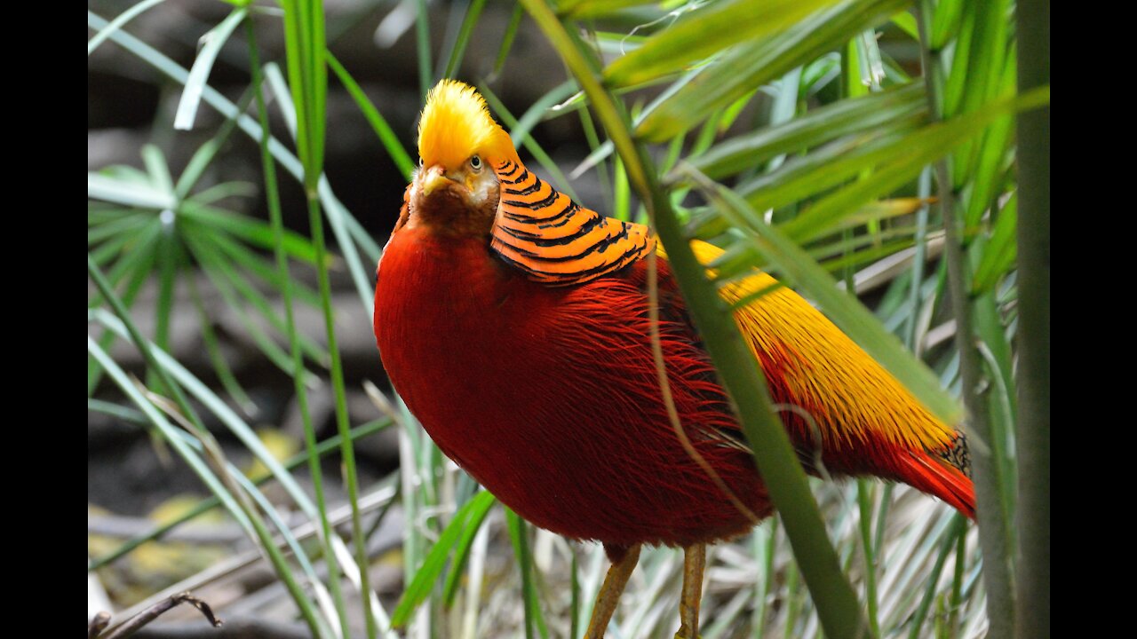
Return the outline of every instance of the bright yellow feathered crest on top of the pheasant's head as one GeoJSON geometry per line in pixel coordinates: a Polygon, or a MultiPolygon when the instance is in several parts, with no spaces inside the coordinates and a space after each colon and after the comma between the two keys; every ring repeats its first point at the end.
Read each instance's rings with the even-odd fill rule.
{"type": "Polygon", "coordinates": [[[493,122],[478,91],[457,80],[443,80],[426,96],[418,119],[418,156],[425,166],[441,164],[453,169],[475,155],[490,166],[517,161],[509,134],[493,122]]]}

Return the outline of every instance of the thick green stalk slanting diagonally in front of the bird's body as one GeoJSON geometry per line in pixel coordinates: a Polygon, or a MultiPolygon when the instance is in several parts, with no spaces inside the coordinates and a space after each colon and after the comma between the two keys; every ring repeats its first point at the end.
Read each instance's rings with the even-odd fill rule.
{"type": "Polygon", "coordinates": [[[754,365],[754,356],[742,342],[733,316],[723,309],[717,291],[706,280],[705,268],[691,252],[650,157],[632,138],[628,114],[601,85],[594,61],[586,57],[553,9],[542,0],[521,1],[584,89],[624,161],[629,181],[652,213],[692,320],[735,400],[755,460],[786,523],[825,634],[832,639],[863,637],[868,624],[856,592],[840,571],[805,472],[771,408],[762,372],[754,365]]]}

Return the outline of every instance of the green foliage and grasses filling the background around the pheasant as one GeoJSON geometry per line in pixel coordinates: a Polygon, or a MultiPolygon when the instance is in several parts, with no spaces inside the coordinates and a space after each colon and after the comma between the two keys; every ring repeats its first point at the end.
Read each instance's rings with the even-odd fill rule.
{"type": "MultiPolygon", "coordinates": [[[[1007,0],[89,2],[89,617],[114,611],[109,634],[192,590],[280,636],[580,636],[603,551],[498,507],[374,348],[417,110],[457,77],[582,204],[652,217],[671,255],[725,248],[692,285],[771,271],[970,416],[978,530],[906,487],[814,481],[861,620],[832,625],[840,595],[806,588],[775,516],[711,549],[702,636],[1012,636],[1014,571],[1040,570],[1021,531],[1045,523],[1048,553],[1049,526],[1048,495],[1016,513],[1048,487],[1048,397],[1045,484],[1016,432],[1044,430],[1015,374],[1039,351],[1016,232],[1041,190],[1020,197],[1012,116],[1039,107],[1049,241],[1030,9],[1024,30],[1007,0]]],[[[671,637],[681,572],[645,551],[609,636],[671,637]]]]}

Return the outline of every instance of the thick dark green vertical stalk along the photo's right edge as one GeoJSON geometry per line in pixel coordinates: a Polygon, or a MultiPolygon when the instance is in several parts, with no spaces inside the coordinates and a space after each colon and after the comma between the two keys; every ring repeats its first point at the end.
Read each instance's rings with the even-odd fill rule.
{"type": "MultiPolygon", "coordinates": [[[[1019,91],[1051,82],[1051,1],[1015,9],[1019,91]]],[[[1018,636],[1051,636],[1051,108],[1018,121],[1018,636]]]]}

